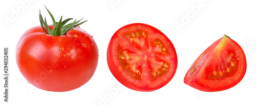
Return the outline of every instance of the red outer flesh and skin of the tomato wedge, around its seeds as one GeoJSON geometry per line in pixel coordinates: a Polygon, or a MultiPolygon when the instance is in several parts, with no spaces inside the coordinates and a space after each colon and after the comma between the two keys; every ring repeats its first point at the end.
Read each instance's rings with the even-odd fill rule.
{"type": "MultiPolygon", "coordinates": [[[[222,39],[223,39],[223,37],[220,38],[219,40],[217,40],[216,42],[214,42],[213,44],[211,44],[207,49],[215,47],[219,42],[221,42],[222,39]]],[[[187,84],[188,86],[198,89],[200,91],[217,92],[217,91],[223,91],[223,90],[232,88],[233,86],[236,86],[239,82],[241,82],[241,80],[243,79],[243,77],[245,75],[246,66],[247,66],[244,51],[243,51],[242,47],[236,41],[234,41],[230,38],[226,38],[226,42],[227,42],[226,44],[229,44],[229,45],[225,44],[225,46],[227,46],[226,48],[236,49],[236,51],[238,52],[238,54],[241,57],[241,58],[239,58],[239,60],[240,60],[239,67],[240,68],[236,74],[234,74],[232,77],[226,77],[223,80],[214,80],[214,81],[204,80],[205,73],[200,72],[200,71],[197,71],[193,75],[188,76],[189,72],[191,71],[192,66],[197,63],[198,59],[200,57],[202,57],[203,54],[205,54],[205,52],[208,52],[208,50],[205,49],[203,51],[203,53],[198,57],[198,59],[193,63],[193,65],[187,71],[187,73],[184,77],[184,83],[187,84]],[[209,84],[209,82],[212,84],[209,84]],[[206,85],[206,84],[208,84],[208,85],[206,85]]],[[[209,58],[209,57],[206,57],[206,58],[209,58]]],[[[198,70],[201,70],[201,69],[202,69],[202,67],[199,67],[198,70]]]]}

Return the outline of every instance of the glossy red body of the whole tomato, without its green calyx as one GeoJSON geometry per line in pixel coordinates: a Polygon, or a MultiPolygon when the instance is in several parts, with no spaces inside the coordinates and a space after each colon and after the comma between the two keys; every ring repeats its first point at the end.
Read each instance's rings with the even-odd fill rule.
{"type": "Polygon", "coordinates": [[[52,36],[36,26],[19,39],[16,62],[33,86],[48,91],[70,91],[93,76],[98,48],[92,36],[79,27],[65,35],[52,36]]]}

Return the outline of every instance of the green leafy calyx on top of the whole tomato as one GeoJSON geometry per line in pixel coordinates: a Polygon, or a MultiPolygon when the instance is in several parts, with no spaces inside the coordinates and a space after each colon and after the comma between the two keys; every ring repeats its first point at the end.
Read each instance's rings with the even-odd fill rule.
{"type": "MultiPolygon", "coordinates": [[[[45,6],[46,7],[46,6],[45,6]]],[[[46,8],[47,9],[47,8],[46,8]]],[[[41,12],[39,10],[39,20],[40,20],[40,24],[42,27],[42,30],[44,30],[45,33],[49,34],[49,35],[53,35],[53,36],[60,36],[60,35],[64,35],[66,34],[69,30],[76,28],[78,25],[82,24],[83,22],[86,21],[82,21],[80,23],[78,23],[79,21],[81,21],[82,19],[78,20],[78,21],[74,21],[72,23],[66,24],[69,20],[73,19],[73,18],[68,18],[66,20],[62,21],[62,16],[59,20],[59,22],[56,22],[53,15],[51,14],[51,12],[47,9],[48,13],[50,14],[52,21],[53,21],[53,30],[49,27],[49,25],[47,24],[46,21],[46,17],[45,17],[45,21],[42,18],[41,12]],[[65,25],[66,24],[66,25],[65,25]],[[44,26],[46,27],[47,31],[45,30],[44,26]]]]}

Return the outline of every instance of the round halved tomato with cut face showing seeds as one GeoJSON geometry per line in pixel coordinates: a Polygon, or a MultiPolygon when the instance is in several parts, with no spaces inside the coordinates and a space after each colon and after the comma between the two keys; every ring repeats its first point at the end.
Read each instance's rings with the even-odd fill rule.
{"type": "Polygon", "coordinates": [[[112,36],[107,60],[116,79],[136,91],[154,91],[172,80],[177,69],[174,45],[158,29],[128,24],[112,36]]]}

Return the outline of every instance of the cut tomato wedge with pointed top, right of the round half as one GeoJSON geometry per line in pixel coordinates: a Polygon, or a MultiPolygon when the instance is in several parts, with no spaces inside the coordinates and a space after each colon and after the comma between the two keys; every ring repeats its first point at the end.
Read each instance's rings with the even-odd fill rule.
{"type": "Polygon", "coordinates": [[[246,58],[241,46],[224,35],[211,44],[188,69],[184,83],[214,92],[237,85],[245,75],[246,58]]]}

